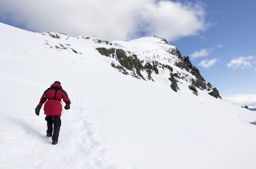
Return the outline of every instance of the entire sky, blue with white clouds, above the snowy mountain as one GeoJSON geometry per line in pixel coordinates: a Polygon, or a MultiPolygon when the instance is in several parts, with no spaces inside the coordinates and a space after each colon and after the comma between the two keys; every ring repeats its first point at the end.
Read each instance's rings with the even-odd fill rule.
{"type": "Polygon", "coordinates": [[[1,0],[0,22],[104,40],[165,38],[220,95],[256,94],[256,2],[1,0]]]}

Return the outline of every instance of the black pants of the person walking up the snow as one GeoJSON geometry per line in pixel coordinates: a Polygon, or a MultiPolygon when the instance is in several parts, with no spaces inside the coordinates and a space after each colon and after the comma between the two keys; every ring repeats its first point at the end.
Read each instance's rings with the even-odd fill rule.
{"type": "Polygon", "coordinates": [[[45,120],[47,121],[47,134],[52,134],[53,141],[58,141],[59,129],[61,125],[60,116],[58,115],[46,115],[45,120]]]}

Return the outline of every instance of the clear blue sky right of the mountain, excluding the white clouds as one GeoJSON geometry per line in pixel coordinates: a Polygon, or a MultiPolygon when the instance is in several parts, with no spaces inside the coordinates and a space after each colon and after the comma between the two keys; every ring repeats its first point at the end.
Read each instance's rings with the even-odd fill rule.
{"type": "Polygon", "coordinates": [[[178,46],[182,55],[190,56],[202,48],[211,49],[205,58],[191,59],[199,67],[207,81],[215,85],[222,95],[255,94],[256,59],[252,66],[236,69],[228,67],[231,59],[256,56],[256,1],[203,1],[206,5],[206,21],[215,23],[199,36],[186,37],[171,42],[178,46]],[[216,45],[222,45],[221,48],[216,45]],[[202,59],[217,58],[209,69],[198,66],[202,59]]]}

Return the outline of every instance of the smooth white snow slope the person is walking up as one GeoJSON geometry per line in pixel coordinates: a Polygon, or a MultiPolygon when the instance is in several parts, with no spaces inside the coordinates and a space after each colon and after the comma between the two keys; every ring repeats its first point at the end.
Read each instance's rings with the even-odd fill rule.
{"type": "Polygon", "coordinates": [[[123,75],[92,39],[1,23],[0,32],[0,168],[256,167],[256,126],[248,123],[255,112],[204,91],[196,96],[185,85],[174,92],[164,73],[157,82],[123,75]],[[51,145],[45,115],[34,108],[55,80],[71,109],[51,145]]]}

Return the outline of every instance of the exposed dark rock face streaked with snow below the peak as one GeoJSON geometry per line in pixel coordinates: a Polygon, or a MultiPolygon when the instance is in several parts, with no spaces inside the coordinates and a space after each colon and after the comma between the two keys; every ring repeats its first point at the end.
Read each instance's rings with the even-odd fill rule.
{"type": "MultiPolygon", "coordinates": [[[[168,45],[168,42],[165,39],[159,39],[160,41],[157,43],[161,45],[168,45]]],[[[104,42],[104,44],[106,44],[106,42],[104,42]]],[[[207,93],[213,97],[221,98],[218,90],[213,87],[211,83],[206,83],[197,67],[191,64],[189,57],[182,57],[177,47],[169,47],[165,50],[167,55],[170,55],[170,58],[175,56],[176,59],[174,62],[171,61],[170,58],[165,58],[167,62],[165,60],[160,62],[158,60],[161,60],[161,57],[159,57],[158,54],[154,54],[150,59],[139,60],[137,53],[135,54],[122,48],[114,48],[113,46],[115,46],[115,43],[113,43],[113,45],[108,49],[105,47],[99,47],[96,49],[103,56],[115,58],[117,62],[111,63],[111,66],[115,67],[119,72],[125,75],[132,75],[139,79],[154,81],[153,77],[159,74],[159,70],[162,70],[162,72],[169,71],[169,77],[167,78],[170,81],[170,88],[173,91],[178,92],[178,90],[180,90],[179,84],[185,82],[190,83],[188,88],[195,95],[198,95],[198,89],[200,89],[208,91],[207,93]],[[156,56],[158,57],[157,61],[152,59],[156,56]],[[171,62],[173,63],[169,64],[171,62]],[[174,71],[171,65],[173,65],[174,68],[175,66],[179,67],[182,71],[179,72],[176,68],[174,71]],[[152,76],[152,74],[154,74],[154,76],[152,76]]],[[[145,55],[145,53],[143,53],[143,55],[145,55]]]]}

